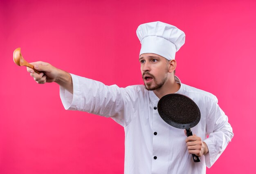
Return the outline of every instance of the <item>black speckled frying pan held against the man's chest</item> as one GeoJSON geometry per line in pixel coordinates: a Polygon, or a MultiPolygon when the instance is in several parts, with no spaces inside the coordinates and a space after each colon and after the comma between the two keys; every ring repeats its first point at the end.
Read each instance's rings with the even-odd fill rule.
{"type": "MultiPolygon", "coordinates": [[[[192,136],[190,128],[198,124],[201,118],[200,110],[195,102],[182,94],[167,94],[158,104],[157,110],[160,117],[169,125],[186,129],[187,136],[192,136]]],[[[200,162],[200,158],[192,154],[194,162],[200,162]]]]}

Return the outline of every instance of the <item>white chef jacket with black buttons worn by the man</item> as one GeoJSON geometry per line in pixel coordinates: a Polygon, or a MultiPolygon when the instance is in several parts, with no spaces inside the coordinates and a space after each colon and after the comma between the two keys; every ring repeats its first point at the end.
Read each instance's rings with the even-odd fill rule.
{"type": "Polygon", "coordinates": [[[201,112],[200,122],[191,130],[207,144],[209,153],[195,163],[188,153],[184,130],[168,125],[159,116],[159,98],[153,91],[144,85],[120,88],[71,76],[73,94],[60,88],[65,109],[110,117],[124,127],[125,174],[204,174],[234,135],[216,96],[184,85],[175,76],[180,83],[176,93],[191,98],[201,112]]]}

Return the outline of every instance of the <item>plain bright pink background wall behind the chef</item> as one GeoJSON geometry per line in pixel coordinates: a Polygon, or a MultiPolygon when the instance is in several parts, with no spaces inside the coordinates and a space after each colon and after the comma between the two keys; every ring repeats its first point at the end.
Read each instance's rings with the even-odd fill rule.
{"type": "Polygon", "coordinates": [[[186,33],[177,76],[215,94],[234,129],[207,173],[254,173],[255,9],[254,0],[0,0],[0,173],[123,173],[123,127],[66,111],[58,85],[35,83],[13,50],[106,85],[142,84],[136,29],[157,20],[186,33]]]}

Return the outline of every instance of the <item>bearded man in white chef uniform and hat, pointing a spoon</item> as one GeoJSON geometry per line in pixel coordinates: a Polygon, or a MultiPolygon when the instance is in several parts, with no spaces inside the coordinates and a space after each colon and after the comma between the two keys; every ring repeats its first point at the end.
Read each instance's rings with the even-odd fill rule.
{"type": "Polygon", "coordinates": [[[27,71],[37,83],[58,83],[65,109],[111,117],[124,127],[125,174],[203,174],[234,135],[227,116],[213,94],[184,85],[174,75],[175,53],[185,41],[183,31],[150,22],[138,27],[137,36],[145,85],[106,86],[45,62],[33,63],[43,73],[27,71]],[[201,120],[192,128],[193,136],[186,137],[160,118],[159,98],[171,93],[188,96],[198,105],[201,120]],[[201,162],[193,162],[191,154],[200,156],[201,162]]]}

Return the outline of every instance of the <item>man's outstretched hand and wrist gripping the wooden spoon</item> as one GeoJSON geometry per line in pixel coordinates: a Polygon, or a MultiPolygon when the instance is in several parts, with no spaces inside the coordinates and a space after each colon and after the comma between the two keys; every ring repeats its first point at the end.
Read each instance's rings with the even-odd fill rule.
{"type": "Polygon", "coordinates": [[[56,82],[73,94],[73,82],[69,73],[58,69],[47,62],[39,61],[30,64],[34,66],[34,69],[40,71],[40,74],[37,74],[33,69],[27,67],[27,71],[30,73],[30,76],[34,78],[36,83],[44,84],[46,82],[56,82]]]}

